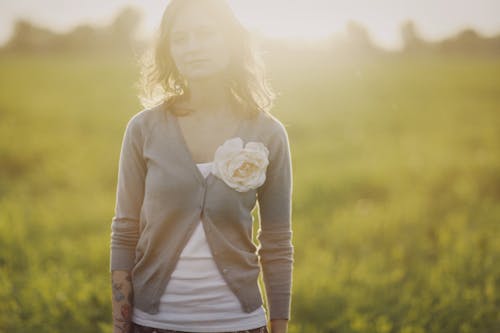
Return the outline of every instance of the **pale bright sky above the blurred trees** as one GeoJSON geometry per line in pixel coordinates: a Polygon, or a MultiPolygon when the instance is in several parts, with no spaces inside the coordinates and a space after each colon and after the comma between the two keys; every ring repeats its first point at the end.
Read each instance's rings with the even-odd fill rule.
{"type": "MultiPolygon", "coordinates": [[[[343,33],[349,20],[364,25],[380,47],[400,49],[400,27],[413,20],[419,34],[440,40],[472,27],[485,36],[500,34],[500,0],[228,0],[251,30],[271,37],[321,39],[343,33]]],[[[58,32],[82,23],[109,24],[133,5],[143,11],[140,35],[158,25],[166,0],[0,0],[0,44],[17,18],[58,32]]]]}

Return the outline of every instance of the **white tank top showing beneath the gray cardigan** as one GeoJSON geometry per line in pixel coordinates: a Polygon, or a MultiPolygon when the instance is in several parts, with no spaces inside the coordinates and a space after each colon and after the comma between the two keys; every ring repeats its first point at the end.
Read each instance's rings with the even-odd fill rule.
{"type": "MultiPolygon", "coordinates": [[[[197,166],[207,177],[212,162],[197,166]]],[[[149,314],[134,307],[132,321],[161,329],[224,332],[261,327],[267,319],[262,305],[251,313],[242,310],[217,269],[200,220],[180,254],[160,299],[159,312],[149,314]]]]}

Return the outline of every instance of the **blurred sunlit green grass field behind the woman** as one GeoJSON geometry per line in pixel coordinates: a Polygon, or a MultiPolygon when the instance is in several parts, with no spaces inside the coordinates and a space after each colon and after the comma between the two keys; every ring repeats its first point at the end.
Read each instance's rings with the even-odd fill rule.
{"type": "MultiPolygon", "coordinates": [[[[287,60],[268,63],[294,171],[289,332],[500,332],[500,59],[287,60]]],[[[0,73],[0,331],[111,332],[138,69],[3,56],[0,73]]]]}

